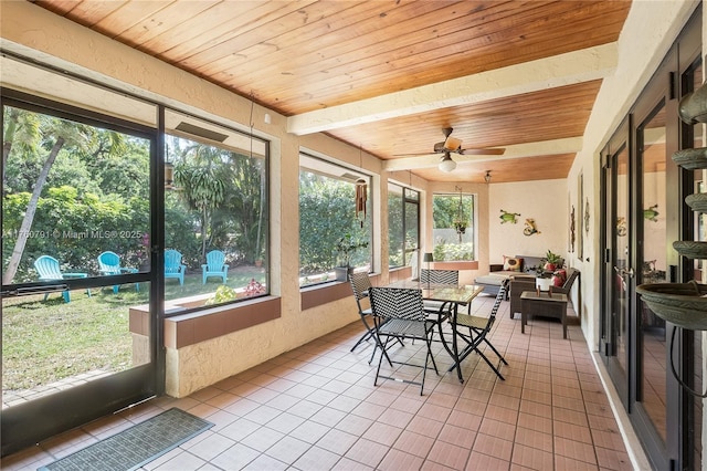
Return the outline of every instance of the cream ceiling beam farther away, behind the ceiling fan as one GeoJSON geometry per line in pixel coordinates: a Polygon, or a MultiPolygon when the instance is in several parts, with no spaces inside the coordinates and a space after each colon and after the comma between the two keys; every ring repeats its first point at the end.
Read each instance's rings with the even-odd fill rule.
{"type": "MultiPolygon", "coordinates": [[[[562,139],[542,140],[538,143],[515,144],[507,146],[506,151],[502,156],[465,156],[452,154],[451,157],[457,164],[464,164],[467,161],[482,163],[482,161],[498,161],[514,158],[535,157],[535,156],[550,156],[558,154],[573,154],[578,153],[582,148],[583,139],[579,137],[567,137],[562,139]]],[[[397,158],[383,161],[383,170],[410,170],[414,168],[430,168],[436,167],[442,158],[441,154],[431,154],[422,157],[405,157],[397,158]]]]}

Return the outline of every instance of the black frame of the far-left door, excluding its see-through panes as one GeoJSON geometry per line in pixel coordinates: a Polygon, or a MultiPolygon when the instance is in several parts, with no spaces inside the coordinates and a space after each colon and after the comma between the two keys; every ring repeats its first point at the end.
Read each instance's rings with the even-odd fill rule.
{"type": "MultiPolygon", "coordinates": [[[[161,266],[161,250],[159,243],[163,238],[163,217],[154,214],[163,213],[163,203],[159,196],[159,185],[163,187],[163,175],[156,171],[160,148],[163,148],[163,139],[159,137],[158,129],[137,123],[127,122],[112,116],[102,115],[84,108],[57,103],[51,100],[38,97],[13,90],[0,88],[0,107],[17,106],[38,113],[68,118],[88,125],[99,126],[107,129],[123,132],[128,135],[139,136],[150,143],[150,211],[152,217],[150,230],[155,242],[151,247],[150,266],[161,266]],[[161,211],[161,212],[158,212],[161,211]],[[162,229],[161,231],[159,231],[162,229]],[[159,232],[157,232],[159,231],[159,232]]],[[[161,117],[160,117],[161,119],[161,117]]],[[[0,117],[0,123],[2,117],[0,117]]],[[[160,159],[161,160],[161,159],[160,159]]],[[[0,182],[0,185],[3,185],[0,182]]],[[[0,224],[1,224],[0,216],[0,224]]],[[[98,417],[113,414],[125,407],[149,399],[150,397],[163,394],[165,388],[165,353],[161,345],[161,329],[158,313],[161,312],[162,303],[157,295],[161,289],[161,276],[156,270],[150,272],[139,272],[135,274],[115,275],[108,278],[87,278],[76,280],[65,280],[70,289],[87,289],[112,286],[116,282],[134,283],[149,282],[150,289],[150,362],[145,365],[131,367],[106,377],[93,379],[80,386],[62,390],[60,393],[45,396],[3,409],[0,418],[2,456],[19,451],[32,446],[43,439],[60,432],[78,427],[98,417]],[[46,420],[51,417],[52,420],[46,420]]],[[[33,282],[2,285],[2,297],[15,295],[18,290],[51,285],[53,282],[33,282]]],[[[1,305],[1,304],[0,304],[1,305]]],[[[1,316],[1,307],[0,307],[1,316]]],[[[1,328],[1,327],[0,327],[1,328]]],[[[1,344],[0,339],[0,344],[1,344]]]]}

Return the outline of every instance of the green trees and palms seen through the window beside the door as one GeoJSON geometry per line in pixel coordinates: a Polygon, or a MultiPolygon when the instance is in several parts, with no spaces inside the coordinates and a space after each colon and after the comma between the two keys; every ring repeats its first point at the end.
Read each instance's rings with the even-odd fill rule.
{"type": "Polygon", "coordinates": [[[212,249],[224,251],[231,264],[262,260],[267,245],[265,161],[175,136],[169,139],[179,190],[166,200],[168,245],[178,249],[190,266],[202,263],[212,249]]]}

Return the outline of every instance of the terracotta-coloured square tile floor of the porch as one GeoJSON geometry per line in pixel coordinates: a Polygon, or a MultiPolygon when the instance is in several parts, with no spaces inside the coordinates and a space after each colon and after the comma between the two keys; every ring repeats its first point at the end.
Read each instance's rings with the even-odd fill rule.
{"type": "MultiPolygon", "coordinates": [[[[473,308],[484,315],[493,301],[479,296],[473,308]]],[[[145,470],[632,469],[577,316],[564,341],[551,320],[530,320],[521,334],[507,310],[505,302],[492,335],[509,363],[505,381],[473,354],[460,384],[435,344],[441,376],[428,374],[424,396],[397,381],[376,387],[371,347],[349,352],[362,332],[357,322],[187,398],[155,399],[56,436],[7,457],[2,469],[36,469],[170,407],[215,426],[145,470]]],[[[424,346],[391,353],[419,360],[424,346]]]]}

